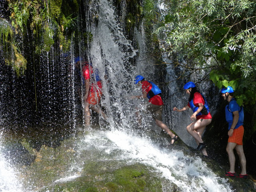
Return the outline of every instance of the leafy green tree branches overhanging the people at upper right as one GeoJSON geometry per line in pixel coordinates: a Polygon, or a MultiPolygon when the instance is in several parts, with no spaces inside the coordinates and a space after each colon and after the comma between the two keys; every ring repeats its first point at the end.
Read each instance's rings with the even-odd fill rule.
{"type": "Polygon", "coordinates": [[[232,86],[239,104],[256,102],[256,6],[252,0],[162,0],[156,30],[164,51],[186,68],[208,68],[218,88],[232,86]]]}

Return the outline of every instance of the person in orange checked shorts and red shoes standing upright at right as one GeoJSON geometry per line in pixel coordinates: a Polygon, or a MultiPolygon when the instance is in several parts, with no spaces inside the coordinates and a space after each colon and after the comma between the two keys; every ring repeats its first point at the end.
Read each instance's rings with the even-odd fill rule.
{"type": "Polygon", "coordinates": [[[240,159],[241,173],[236,176],[239,178],[247,178],[246,174],[246,158],[243,149],[244,136],[244,109],[240,107],[234,98],[234,90],[231,86],[221,89],[222,97],[228,101],[225,107],[226,121],[228,122],[228,144],[226,151],[228,152],[228,159],[230,170],[225,173],[226,176],[234,177],[235,173],[235,155],[234,149],[240,159]]]}

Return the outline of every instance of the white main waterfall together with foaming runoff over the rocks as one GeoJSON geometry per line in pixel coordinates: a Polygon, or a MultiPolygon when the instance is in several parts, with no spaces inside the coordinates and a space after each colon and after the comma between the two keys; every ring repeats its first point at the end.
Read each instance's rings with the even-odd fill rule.
{"type": "MultiPolygon", "coordinates": [[[[182,151],[160,147],[160,143],[166,145],[168,141],[163,136],[160,136],[160,134],[152,131],[151,126],[147,126],[148,122],[145,122],[145,130],[137,134],[138,132],[134,130],[134,125],[136,124],[134,112],[135,106],[139,104],[139,101],[129,99],[131,95],[134,95],[133,90],[135,86],[133,79],[137,74],[148,76],[148,79],[153,78],[153,72],[146,72],[145,68],[140,68],[141,61],[146,60],[146,58],[138,57],[137,67],[129,64],[130,59],[136,56],[136,51],[132,47],[131,42],[122,34],[122,29],[118,26],[111,2],[95,0],[90,1],[88,4],[84,2],[84,4],[85,7],[89,7],[85,10],[88,18],[97,16],[97,25],[95,25],[94,20],[87,21],[86,28],[93,35],[93,40],[88,45],[86,59],[92,62],[93,66],[99,70],[104,93],[101,104],[106,108],[107,121],[111,129],[105,131],[104,126],[100,131],[90,129],[88,134],[82,134],[75,138],[75,141],[70,144],[72,150],[66,150],[66,153],[75,153],[72,156],[74,161],[70,162],[68,161],[69,159],[64,159],[67,161],[67,169],[56,174],[54,179],[47,178],[45,181],[43,180],[43,186],[39,184],[36,186],[35,180],[34,183],[28,186],[28,183],[37,174],[32,172],[31,175],[27,175],[24,178],[24,184],[22,190],[20,190],[21,186],[17,182],[16,176],[14,176],[15,172],[13,169],[10,169],[9,164],[6,163],[0,153],[0,164],[3,164],[3,170],[7,170],[8,174],[12,177],[12,180],[4,179],[3,183],[0,182],[0,191],[11,192],[15,190],[25,192],[42,191],[44,189],[46,189],[45,191],[50,191],[48,188],[51,186],[57,184],[64,185],[68,181],[81,177],[82,174],[87,174],[86,171],[82,171],[86,164],[94,163],[99,165],[96,167],[106,164],[106,167],[103,167],[102,170],[115,170],[125,165],[140,163],[151,167],[152,174],[161,178],[162,191],[164,192],[168,192],[173,184],[178,186],[180,191],[184,192],[231,192],[232,190],[227,180],[216,176],[199,157],[185,156],[182,151]],[[111,161],[114,161],[114,163],[108,164],[111,161]],[[11,185],[12,183],[14,185],[11,185]]],[[[137,38],[143,40],[143,32],[137,32],[137,38]]],[[[142,50],[144,42],[142,41],[139,44],[140,50],[142,50]]],[[[140,55],[142,56],[143,52],[140,55]]],[[[148,60],[145,62],[149,63],[148,60]]],[[[72,69],[74,71],[74,66],[72,66],[72,69]]],[[[52,69],[52,72],[58,71],[52,69]]],[[[63,74],[66,73],[65,71],[63,74]]],[[[73,77],[73,73],[71,73],[71,76],[73,77]]],[[[53,76],[51,77],[53,78],[53,76]]],[[[52,88],[54,83],[49,82],[49,84],[51,85],[50,90],[54,90],[52,88]]],[[[141,92],[138,88],[136,91],[137,93],[141,92]]],[[[70,92],[72,92],[71,97],[73,98],[71,103],[74,104],[74,87],[70,92]]],[[[152,127],[152,129],[160,132],[160,128],[157,128],[155,125],[152,127]]],[[[46,146],[42,150],[46,150],[46,146]]],[[[58,156],[58,151],[52,151],[54,151],[54,154],[50,156],[50,160],[48,159],[48,164],[50,162],[57,163],[55,158],[58,156]]],[[[42,161],[40,154],[38,154],[39,152],[35,153],[37,158],[34,164],[40,165],[40,161],[42,161]]],[[[30,165],[27,166],[28,168],[26,169],[20,168],[23,176],[29,173],[27,170],[30,165]]],[[[2,174],[2,167],[0,172],[1,179],[5,176],[2,174]]],[[[47,165],[44,171],[51,169],[53,169],[52,166],[47,165]]]]}

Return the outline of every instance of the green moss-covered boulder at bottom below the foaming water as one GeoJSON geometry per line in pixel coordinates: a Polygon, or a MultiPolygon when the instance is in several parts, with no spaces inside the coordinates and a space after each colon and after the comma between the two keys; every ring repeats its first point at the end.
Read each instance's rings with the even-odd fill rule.
{"type": "MultiPolygon", "coordinates": [[[[112,170],[108,166],[114,162],[88,163],[78,178],[58,182],[40,192],[162,192],[163,178],[150,166],[136,163],[112,170]]],[[[177,191],[176,185],[170,188],[172,191],[177,191]]]]}

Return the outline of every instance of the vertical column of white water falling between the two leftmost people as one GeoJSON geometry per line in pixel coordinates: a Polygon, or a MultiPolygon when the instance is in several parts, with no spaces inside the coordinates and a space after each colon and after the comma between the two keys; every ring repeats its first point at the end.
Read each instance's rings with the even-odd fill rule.
{"type": "Polygon", "coordinates": [[[134,78],[134,66],[129,60],[136,55],[136,50],[122,33],[109,1],[95,0],[88,6],[86,15],[98,16],[97,26],[94,21],[87,21],[87,30],[93,35],[87,58],[102,79],[104,99],[101,104],[106,107],[112,125],[118,122],[118,126],[125,127],[129,124],[125,110],[130,108],[128,98],[134,78]]]}

